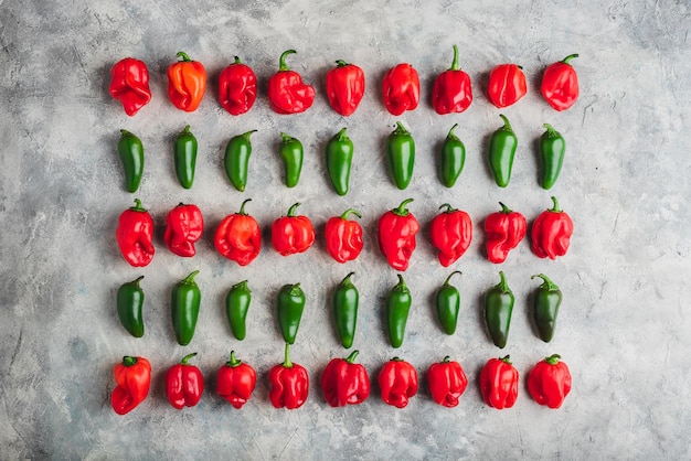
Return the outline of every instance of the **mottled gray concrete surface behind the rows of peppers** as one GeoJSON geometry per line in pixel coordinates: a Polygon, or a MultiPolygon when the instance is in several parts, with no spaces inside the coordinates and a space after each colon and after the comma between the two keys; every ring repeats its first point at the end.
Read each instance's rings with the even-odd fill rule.
{"type": "Polygon", "coordinates": [[[2,459],[688,459],[691,426],[691,320],[684,301],[690,240],[689,25],[685,1],[369,2],[307,0],[223,2],[0,1],[0,458],[2,459]],[[378,4],[379,3],[379,4],[378,4]],[[474,78],[475,101],[461,115],[438,116],[429,104],[434,76],[450,63],[451,45],[474,78]],[[279,54],[294,47],[290,66],[317,87],[313,107],[277,116],[266,82],[279,54]],[[210,85],[200,109],[174,109],[164,71],[178,51],[206,65],[210,85]],[[542,69],[571,53],[581,98],[565,112],[539,95],[542,69]],[[125,56],[146,61],[153,99],[128,118],[107,93],[110,66],[125,56]],[[254,67],[262,92],[253,110],[234,118],[219,106],[216,77],[234,55],[254,67]],[[337,58],[361,65],[366,96],[350,118],[328,106],[323,79],[337,58]],[[421,107],[392,117],[381,103],[384,72],[412,63],[421,74],[421,107]],[[482,90],[489,69],[517,62],[529,78],[528,96],[504,112],[520,138],[511,184],[497,187],[485,149],[500,126],[499,110],[482,90]],[[396,120],[417,141],[408,190],[389,180],[382,146],[396,120]],[[453,190],[435,174],[435,154],[450,126],[466,143],[465,171],[453,190]],[[550,122],[566,138],[567,159],[553,191],[536,183],[535,140],[550,122]],[[200,141],[194,186],[182,190],[171,163],[171,142],[185,124],[200,141]],[[325,173],[323,148],[341,127],[355,144],[351,192],[336,195],[325,173]],[[116,154],[119,129],[145,143],[145,178],[125,192],[116,154]],[[233,190],[222,152],[234,135],[253,137],[249,184],[233,190]],[[302,140],[300,184],[281,183],[279,132],[302,140]],[[530,222],[550,195],[575,222],[568,254],[556,261],[530,251],[528,240],[501,267],[482,253],[483,217],[503,201],[530,222]],[[157,224],[157,255],[135,269],[119,256],[114,232],[119,213],[140,197],[157,224]],[[395,283],[376,248],[375,223],[403,199],[423,223],[411,268],[407,337],[392,350],[384,336],[382,300],[395,283]],[[238,268],[212,244],[222,217],[252,197],[247,211],[262,224],[264,248],[238,268]],[[283,258],[268,228],[288,206],[310,216],[319,233],[308,253],[283,258]],[[164,216],[179,202],[196,203],[206,230],[198,256],[182,259],[162,243],[164,216]],[[449,274],[427,237],[437,207],[449,202],[475,223],[468,254],[453,269],[464,301],[458,332],[440,333],[433,315],[436,287],[449,274]],[[327,218],[353,206],[363,214],[365,250],[348,265],[328,257],[321,234],[327,218]],[[193,269],[203,291],[196,335],[178,346],[169,321],[172,285],[193,269]],[[508,276],[517,296],[509,345],[495,347],[483,329],[482,292],[508,276]],[[320,392],[321,369],[346,352],[329,317],[333,285],[354,270],[361,292],[355,347],[373,380],[394,355],[421,373],[444,355],[465,367],[470,385],[454,409],[421,392],[403,410],[389,407],[374,385],[358,407],[332,409],[320,392]],[[529,322],[530,276],[550,275],[564,291],[554,341],[544,344],[529,322]],[[132,339],[115,313],[117,287],[145,276],[147,332],[132,339]],[[223,317],[231,285],[248,279],[254,301],[248,336],[234,340],[223,317]],[[281,360],[274,298],[283,283],[300,281],[308,305],[294,361],[311,376],[307,404],[294,411],[268,401],[267,373],[281,360]],[[231,350],[259,382],[241,411],[215,395],[215,372],[231,350]],[[208,387],[200,405],[183,411],[166,401],[163,374],[183,354],[199,352],[208,387]],[[574,386],[564,406],[549,410],[528,395],[531,365],[552,353],[571,366],[574,386]],[[477,384],[482,364],[511,354],[521,373],[519,400],[498,411],[483,405],[477,384]],[[149,398],[119,417],[108,398],[111,367],[123,355],[153,365],[149,398]]]}

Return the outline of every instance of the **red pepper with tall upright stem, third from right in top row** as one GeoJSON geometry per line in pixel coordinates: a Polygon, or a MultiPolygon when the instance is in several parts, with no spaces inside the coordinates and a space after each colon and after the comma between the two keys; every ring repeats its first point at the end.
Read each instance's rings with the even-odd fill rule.
{"type": "Polygon", "coordinates": [[[432,90],[432,107],[439,115],[460,114],[472,103],[470,75],[458,65],[458,46],[454,45],[451,66],[437,75],[432,90]]]}

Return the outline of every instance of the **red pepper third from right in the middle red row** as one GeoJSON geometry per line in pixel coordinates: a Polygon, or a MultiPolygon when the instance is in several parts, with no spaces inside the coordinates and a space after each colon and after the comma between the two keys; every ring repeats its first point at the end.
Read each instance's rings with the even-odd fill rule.
{"type": "Polygon", "coordinates": [[[451,207],[448,203],[439,206],[445,212],[436,215],[429,226],[432,245],[439,250],[437,257],[444,267],[460,258],[472,240],[472,222],[468,213],[451,207]]]}

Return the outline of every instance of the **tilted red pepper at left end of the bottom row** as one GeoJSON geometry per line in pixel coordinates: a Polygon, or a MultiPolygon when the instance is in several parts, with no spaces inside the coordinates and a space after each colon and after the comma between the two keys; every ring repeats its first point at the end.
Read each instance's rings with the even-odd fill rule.
{"type": "Polygon", "coordinates": [[[110,405],[118,415],[126,415],[149,395],[151,364],[145,357],[126,355],[113,367],[113,377],[117,386],[110,394],[110,405]]]}

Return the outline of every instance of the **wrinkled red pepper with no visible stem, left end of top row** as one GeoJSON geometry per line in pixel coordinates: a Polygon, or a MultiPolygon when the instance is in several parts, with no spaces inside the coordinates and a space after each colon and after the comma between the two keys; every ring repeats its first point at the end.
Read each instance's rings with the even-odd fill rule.
{"type": "Polygon", "coordinates": [[[151,100],[149,69],[143,61],[126,57],[110,68],[110,96],[123,104],[125,114],[132,117],[151,100]]]}

